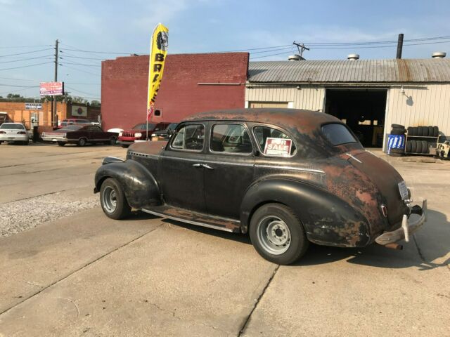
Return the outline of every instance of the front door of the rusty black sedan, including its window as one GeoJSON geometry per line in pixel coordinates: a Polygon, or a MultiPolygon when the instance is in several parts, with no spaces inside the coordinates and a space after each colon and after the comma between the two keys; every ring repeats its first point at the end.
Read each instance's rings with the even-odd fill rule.
{"type": "Polygon", "coordinates": [[[205,211],[203,160],[205,124],[181,124],[162,152],[160,176],[166,204],[192,211],[205,211]]]}

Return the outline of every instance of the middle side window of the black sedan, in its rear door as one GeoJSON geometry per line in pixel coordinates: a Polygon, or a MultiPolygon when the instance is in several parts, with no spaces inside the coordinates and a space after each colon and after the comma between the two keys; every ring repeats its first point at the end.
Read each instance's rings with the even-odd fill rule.
{"type": "Polygon", "coordinates": [[[241,124],[214,124],[210,149],[212,152],[251,153],[252,142],[241,124]]]}

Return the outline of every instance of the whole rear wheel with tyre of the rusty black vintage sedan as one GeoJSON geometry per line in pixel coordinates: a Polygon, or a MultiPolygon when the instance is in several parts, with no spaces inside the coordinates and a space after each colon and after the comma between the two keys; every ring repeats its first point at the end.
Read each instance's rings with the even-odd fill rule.
{"type": "Polygon", "coordinates": [[[294,263],[309,246],[300,219],[283,204],[259,207],[250,220],[249,232],[259,255],[278,265],[294,263]]]}

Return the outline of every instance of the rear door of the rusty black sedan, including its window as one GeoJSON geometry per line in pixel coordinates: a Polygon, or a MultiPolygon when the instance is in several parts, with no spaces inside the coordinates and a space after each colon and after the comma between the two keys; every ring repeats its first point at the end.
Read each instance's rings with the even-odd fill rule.
{"type": "Polygon", "coordinates": [[[241,122],[218,122],[212,124],[208,140],[204,161],[207,212],[238,219],[255,170],[250,132],[241,122]]]}

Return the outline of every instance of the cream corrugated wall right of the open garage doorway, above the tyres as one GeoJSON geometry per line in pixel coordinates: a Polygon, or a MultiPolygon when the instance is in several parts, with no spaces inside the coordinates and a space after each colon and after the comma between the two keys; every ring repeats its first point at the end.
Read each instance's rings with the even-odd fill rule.
{"type": "Polygon", "coordinates": [[[428,84],[390,88],[387,102],[385,131],[391,124],[408,126],[439,126],[439,130],[450,136],[450,84],[428,84]]]}

